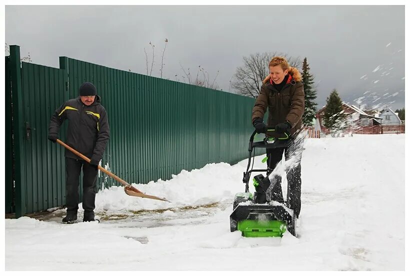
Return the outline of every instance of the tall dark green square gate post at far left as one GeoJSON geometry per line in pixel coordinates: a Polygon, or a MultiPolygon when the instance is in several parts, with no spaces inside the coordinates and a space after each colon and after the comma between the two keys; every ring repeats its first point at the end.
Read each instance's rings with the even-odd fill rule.
{"type": "Polygon", "coordinates": [[[11,94],[13,104],[13,134],[15,153],[15,218],[25,215],[25,166],[23,103],[21,85],[20,47],[10,45],[11,94]]]}

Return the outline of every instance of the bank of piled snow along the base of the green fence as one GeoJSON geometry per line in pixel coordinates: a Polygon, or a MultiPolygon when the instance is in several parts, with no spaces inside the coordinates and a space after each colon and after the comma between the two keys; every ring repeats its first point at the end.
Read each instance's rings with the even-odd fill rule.
{"type": "MultiPolygon", "coordinates": [[[[256,157],[258,162],[262,157],[256,157]]],[[[242,173],[246,169],[243,162],[230,166],[227,163],[207,164],[199,170],[182,170],[172,179],[132,186],[141,192],[166,198],[170,201],[130,197],[122,187],[110,187],[96,195],[95,212],[117,213],[138,210],[156,210],[184,206],[200,206],[231,200],[236,192],[244,190],[242,173]]],[[[79,205],[81,206],[81,204],[79,205]]]]}

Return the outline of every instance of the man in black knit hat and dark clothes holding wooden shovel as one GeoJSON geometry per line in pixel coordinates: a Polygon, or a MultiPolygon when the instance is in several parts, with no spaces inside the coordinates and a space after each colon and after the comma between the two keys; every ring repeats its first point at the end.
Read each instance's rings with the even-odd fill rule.
{"type": "Polygon", "coordinates": [[[67,215],[64,223],[77,219],[79,175],[82,167],[83,221],[94,220],[95,183],[98,163],[109,139],[108,118],[95,86],[84,82],[79,87],[79,97],[64,102],[52,115],[48,140],[55,143],[60,125],[68,119],[66,144],[91,159],[90,163],[65,149],[65,185],[67,215]]]}

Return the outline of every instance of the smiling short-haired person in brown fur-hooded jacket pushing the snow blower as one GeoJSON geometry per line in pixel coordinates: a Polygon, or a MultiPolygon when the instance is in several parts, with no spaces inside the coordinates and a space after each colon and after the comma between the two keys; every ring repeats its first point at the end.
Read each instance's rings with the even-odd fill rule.
{"type": "MultiPolygon", "coordinates": [[[[294,158],[286,172],[290,208],[298,218],[300,213],[300,161],[302,139],[297,137],[302,127],[304,92],[301,76],[295,67],[289,66],[283,57],[273,57],[269,64],[269,75],[263,80],[260,93],[252,109],[252,124],[258,133],[266,132],[263,116],[268,109],[267,125],[274,126],[278,133],[290,134],[286,148],[266,149],[268,174],[282,160],[294,158]]],[[[283,201],[281,177],[274,176],[271,200],[283,201]]]]}

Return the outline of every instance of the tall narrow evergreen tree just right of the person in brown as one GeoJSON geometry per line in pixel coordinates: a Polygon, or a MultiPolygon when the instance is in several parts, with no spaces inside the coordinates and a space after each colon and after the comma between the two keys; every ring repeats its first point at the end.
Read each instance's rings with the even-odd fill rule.
{"type": "Polygon", "coordinates": [[[304,112],[302,120],[305,126],[312,126],[314,124],[313,120],[315,118],[317,105],[314,99],[317,96],[316,90],[313,87],[313,75],[310,74],[310,67],[306,57],[302,63],[302,83],[304,90],[304,112]]]}

